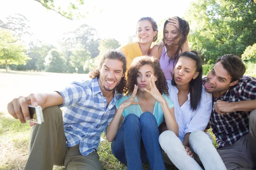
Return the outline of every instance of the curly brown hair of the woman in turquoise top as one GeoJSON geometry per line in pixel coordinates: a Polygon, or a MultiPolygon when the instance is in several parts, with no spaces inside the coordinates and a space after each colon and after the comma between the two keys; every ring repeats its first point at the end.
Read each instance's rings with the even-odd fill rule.
{"type": "Polygon", "coordinates": [[[131,67],[128,70],[127,74],[127,94],[132,94],[134,90],[134,85],[137,84],[137,71],[143,65],[151,65],[154,69],[154,75],[157,77],[156,86],[160,94],[166,94],[169,96],[168,86],[166,82],[166,77],[163,74],[163,71],[160,67],[160,63],[157,58],[151,56],[141,56],[136,57],[131,62],[131,67]]]}

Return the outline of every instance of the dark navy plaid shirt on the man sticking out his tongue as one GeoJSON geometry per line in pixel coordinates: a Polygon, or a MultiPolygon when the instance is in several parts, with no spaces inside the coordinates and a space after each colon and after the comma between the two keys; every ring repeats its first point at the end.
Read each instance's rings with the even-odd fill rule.
{"type": "MultiPolygon", "coordinates": [[[[204,79],[204,82],[206,79],[204,79]]],[[[217,100],[225,102],[239,102],[256,99],[256,79],[249,76],[242,77],[239,82],[219,96],[213,97],[211,124],[212,132],[216,136],[218,148],[232,145],[249,132],[248,111],[235,111],[232,113],[218,114],[214,110],[217,100]]]]}

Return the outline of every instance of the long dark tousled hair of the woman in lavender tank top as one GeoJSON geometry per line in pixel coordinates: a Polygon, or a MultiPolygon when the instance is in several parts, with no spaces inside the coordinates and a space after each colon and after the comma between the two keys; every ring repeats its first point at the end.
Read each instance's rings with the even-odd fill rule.
{"type": "MultiPolygon", "coordinates": [[[[187,39],[188,34],[189,34],[189,30],[190,30],[189,23],[186,22],[186,20],[183,20],[180,17],[177,17],[177,18],[179,20],[179,28],[178,29],[179,29],[180,34],[178,34],[177,37],[174,38],[174,40],[176,40],[176,39],[180,39],[180,40],[176,44],[170,45],[171,48],[169,49],[169,50],[171,50],[172,48],[175,48],[175,47],[178,46],[177,51],[174,54],[174,58],[169,59],[169,64],[170,64],[171,60],[174,60],[173,61],[173,68],[175,68],[175,61],[177,61],[179,59],[180,51],[181,51],[181,53],[183,52],[182,47],[183,47],[184,43],[186,42],[186,39],[187,39]]],[[[165,45],[168,46],[167,43],[166,43],[166,40],[165,40],[165,33],[164,33],[167,23],[169,23],[168,20],[166,20],[166,22],[163,25],[163,39],[162,39],[163,45],[162,45],[162,48],[165,45]]],[[[166,51],[166,54],[167,54],[168,51],[166,51]]]]}

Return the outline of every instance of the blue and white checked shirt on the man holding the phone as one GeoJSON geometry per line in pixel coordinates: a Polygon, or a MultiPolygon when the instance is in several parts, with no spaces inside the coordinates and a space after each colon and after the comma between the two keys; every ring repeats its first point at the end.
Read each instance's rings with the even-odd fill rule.
{"type": "Polygon", "coordinates": [[[80,152],[85,156],[98,150],[100,136],[113,119],[116,101],[122,95],[115,91],[106,107],[107,99],[102,96],[98,78],[72,82],[58,92],[64,99],[61,107],[67,107],[63,116],[67,147],[80,143],[80,152]]]}

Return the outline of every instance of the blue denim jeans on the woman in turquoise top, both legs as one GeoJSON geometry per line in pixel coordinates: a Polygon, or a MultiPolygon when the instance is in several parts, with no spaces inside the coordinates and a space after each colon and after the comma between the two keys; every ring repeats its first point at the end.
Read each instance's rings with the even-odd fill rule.
{"type": "Polygon", "coordinates": [[[128,114],[111,150],[120,162],[127,164],[127,170],[143,170],[145,161],[149,162],[151,170],[166,170],[158,138],[157,121],[152,113],[145,112],[140,118],[128,114]]]}

